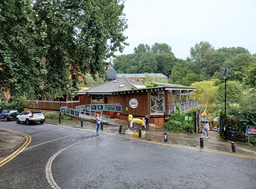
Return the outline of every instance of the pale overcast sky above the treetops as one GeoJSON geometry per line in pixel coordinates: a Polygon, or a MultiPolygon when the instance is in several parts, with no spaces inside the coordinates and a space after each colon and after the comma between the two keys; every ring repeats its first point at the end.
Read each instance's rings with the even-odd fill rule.
{"type": "Polygon", "coordinates": [[[242,46],[256,53],[256,0],[126,0],[123,12],[125,55],[140,43],[158,42],[185,59],[200,41],[215,49],[242,46]]]}

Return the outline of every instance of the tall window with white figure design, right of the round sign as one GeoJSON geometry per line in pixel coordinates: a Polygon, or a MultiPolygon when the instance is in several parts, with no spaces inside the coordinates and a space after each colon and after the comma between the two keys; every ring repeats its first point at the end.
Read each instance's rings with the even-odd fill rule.
{"type": "Polygon", "coordinates": [[[151,113],[164,112],[164,92],[151,92],[151,113]]]}

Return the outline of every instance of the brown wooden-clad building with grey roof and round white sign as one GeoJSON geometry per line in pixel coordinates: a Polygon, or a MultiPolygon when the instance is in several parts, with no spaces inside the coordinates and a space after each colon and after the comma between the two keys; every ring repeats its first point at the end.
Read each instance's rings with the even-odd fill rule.
{"type": "MultiPolygon", "coordinates": [[[[129,114],[132,114],[135,118],[149,115],[150,123],[162,126],[169,119],[169,115],[176,111],[177,103],[181,104],[182,111],[198,105],[197,100],[189,100],[190,92],[195,90],[196,88],[170,84],[145,88],[142,83],[127,77],[121,77],[87,91],[79,92],[74,101],[72,99],[66,102],[38,101],[38,108],[59,110],[60,106],[75,109],[78,105],[119,103],[121,106],[120,119],[126,120],[129,114]]],[[[27,107],[29,107],[29,104],[27,107]]]]}

